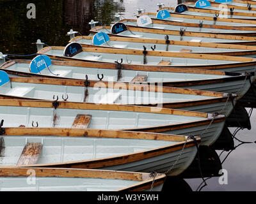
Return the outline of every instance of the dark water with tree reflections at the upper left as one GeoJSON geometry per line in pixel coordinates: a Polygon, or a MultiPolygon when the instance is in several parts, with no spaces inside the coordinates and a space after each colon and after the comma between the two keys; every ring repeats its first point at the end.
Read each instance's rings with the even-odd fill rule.
{"type": "Polygon", "coordinates": [[[61,1],[0,1],[0,52],[5,54],[36,53],[37,39],[47,45],[65,46],[67,32],[76,30],[88,35],[92,19],[109,25],[115,13],[124,12],[122,1],[61,0],[61,1]],[[27,4],[35,3],[36,18],[28,19],[27,4]]]}

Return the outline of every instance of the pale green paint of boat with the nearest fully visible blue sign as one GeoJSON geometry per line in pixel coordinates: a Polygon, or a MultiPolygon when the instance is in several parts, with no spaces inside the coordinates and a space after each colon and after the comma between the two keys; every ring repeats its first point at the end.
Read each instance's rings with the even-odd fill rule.
{"type": "MultiPolygon", "coordinates": [[[[29,73],[28,64],[15,63],[12,66],[6,68],[13,71],[23,71],[29,73]]],[[[75,79],[83,79],[84,75],[88,75],[89,80],[99,80],[97,74],[104,75],[104,81],[117,81],[118,70],[116,69],[97,69],[97,68],[80,68],[76,66],[56,66],[52,65],[50,67],[51,71],[55,74],[60,74],[60,77],[68,77],[75,79]],[[62,75],[61,75],[62,73],[62,75]]],[[[238,69],[238,68],[237,68],[238,69]]],[[[232,70],[232,68],[227,71],[232,70]]],[[[240,68],[239,71],[254,71],[254,69],[240,68]]],[[[238,71],[238,72],[239,72],[238,71]]],[[[48,69],[41,71],[42,75],[51,75],[48,69]]],[[[226,75],[203,75],[196,73],[172,73],[172,72],[157,72],[157,71],[136,71],[136,70],[122,70],[122,78],[119,82],[131,82],[131,80],[136,77],[136,75],[147,75],[147,82],[157,82],[158,85],[162,85],[162,82],[186,82],[190,80],[207,80],[207,79],[218,79],[227,78],[230,76],[226,75]]],[[[252,81],[254,77],[251,77],[252,81]]],[[[236,80],[225,83],[217,84],[207,84],[207,85],[195,85],[189,86],[191,89],[200,89],[207,91],[217,91],[217,92],[232,92],[239,95],[241,98],[250,88],[249,80],[236,80]]],[[[50,97],[50,96],[49,96],[50,97]]],[[[90,96],[89,96],[90,97],[90,96]]],[[[60,98],[60,97],[59,97],[60,98]]],[[[52,99],[52,96],[51,96],[52,99]]]]}

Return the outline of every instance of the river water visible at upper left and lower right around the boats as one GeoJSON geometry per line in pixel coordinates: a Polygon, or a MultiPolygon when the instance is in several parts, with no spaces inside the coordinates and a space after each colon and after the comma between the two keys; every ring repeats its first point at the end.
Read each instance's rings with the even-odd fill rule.
{"type": "MultiPolygon", "coordinates": [[[[101,24],[109,25],[115,20],[115,14],[120,13],[124,18],[135,18],[138,8],[145,11],[156,12],[157,3],[153,0],[59,0],[59,1],[14,1],[0,0],[0,52],[4,54],[28,55],[36,53],[35,43],[37,39],[47,45],[65,46],[69,40],[67,32],[70,29],[80,34],[88,35],[90,20],[97,20],[101,24]],[[27,5],[34,3],[36,6],[36,18],[27,17],[27,5]]],[[[165,6],[175,6],[176,0],[161,1],[165,6]]],[[[249,108],[246,109],[249,112],[249,108]]],[[[252,129],[241,129],[234,139],[236,149],[222,152],[213,150],[219,159],[219,166],[223,168],[222,177],[205,177],[207,186],[201,191],[255,191],[256,190],[256,140],[255,124],[256,113],[250,117],[252,129]],[[227,158],[226,158],[227,157],[227,158]],[[223,161],[224,160],[224,161],[223,161]],[[220,165],[220,163],[223,163],[220,165]],[[225,176],[225,177],[224,177],[225,176]]],[[[231,133],[236,128],[229,128],[231,133]]],[[[204,154],[204,151],[200,151],[204,154]]],[[[217,159],[217,160],[218,160],[217,159]]],[[[211,160],[211,157],[208,159],[211,160]]],[[[215,170],[214,165],[208,166],[208,171],[215,170]]],[[[202,172],[204,175],[204,171],[202,172]]],[[[216,174],[216,170],[215,170],[216,174]]],[[[192,175],[190,177],[196,177],[192,175]]],[[[175,189],[173,184],[182,184],[183,188],[196,191],[200,189],[202,179],[170,180],[166,183],[165,191],[175,189]]],[[[204,186],[204,185],[202,185],[204,186]]],[[[182,189],[181,187],[181,189],[182,189]]]]}

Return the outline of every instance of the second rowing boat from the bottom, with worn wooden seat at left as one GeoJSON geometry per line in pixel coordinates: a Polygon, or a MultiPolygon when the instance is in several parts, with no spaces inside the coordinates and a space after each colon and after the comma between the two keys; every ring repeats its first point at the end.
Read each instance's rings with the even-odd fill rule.
{"type": "Polygon", "coordinates": [[[192,163],[200,138],[131,131],[4,128],[1,168],[47,167],[179,175],[192,163]],[[29,150],[29,151],[26,151],[29,150]],[[28,154],[30,152],[30,154],[28,154]]]}

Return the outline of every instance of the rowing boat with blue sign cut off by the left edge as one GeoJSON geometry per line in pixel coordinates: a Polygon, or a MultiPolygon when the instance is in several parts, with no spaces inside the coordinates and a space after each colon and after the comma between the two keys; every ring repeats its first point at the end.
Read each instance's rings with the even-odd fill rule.
{"type": "Polygon", "coordinates": [[[97,104],[163,106],[228,116],[236,104],[236,95],[227,93],[160,87],[121,82],[90,82],[56,78],[11,77],[0,71],[0,99],[43,99],[97,104]],[[84,97],[85,92],[87,97],[84,97]],[[227,103],[227,105],[226,105],[227,103]],[[233,103],[233,105],[232,105],[233,103]],[[223,108],[225,106],[225,108],[223,108]]]}

